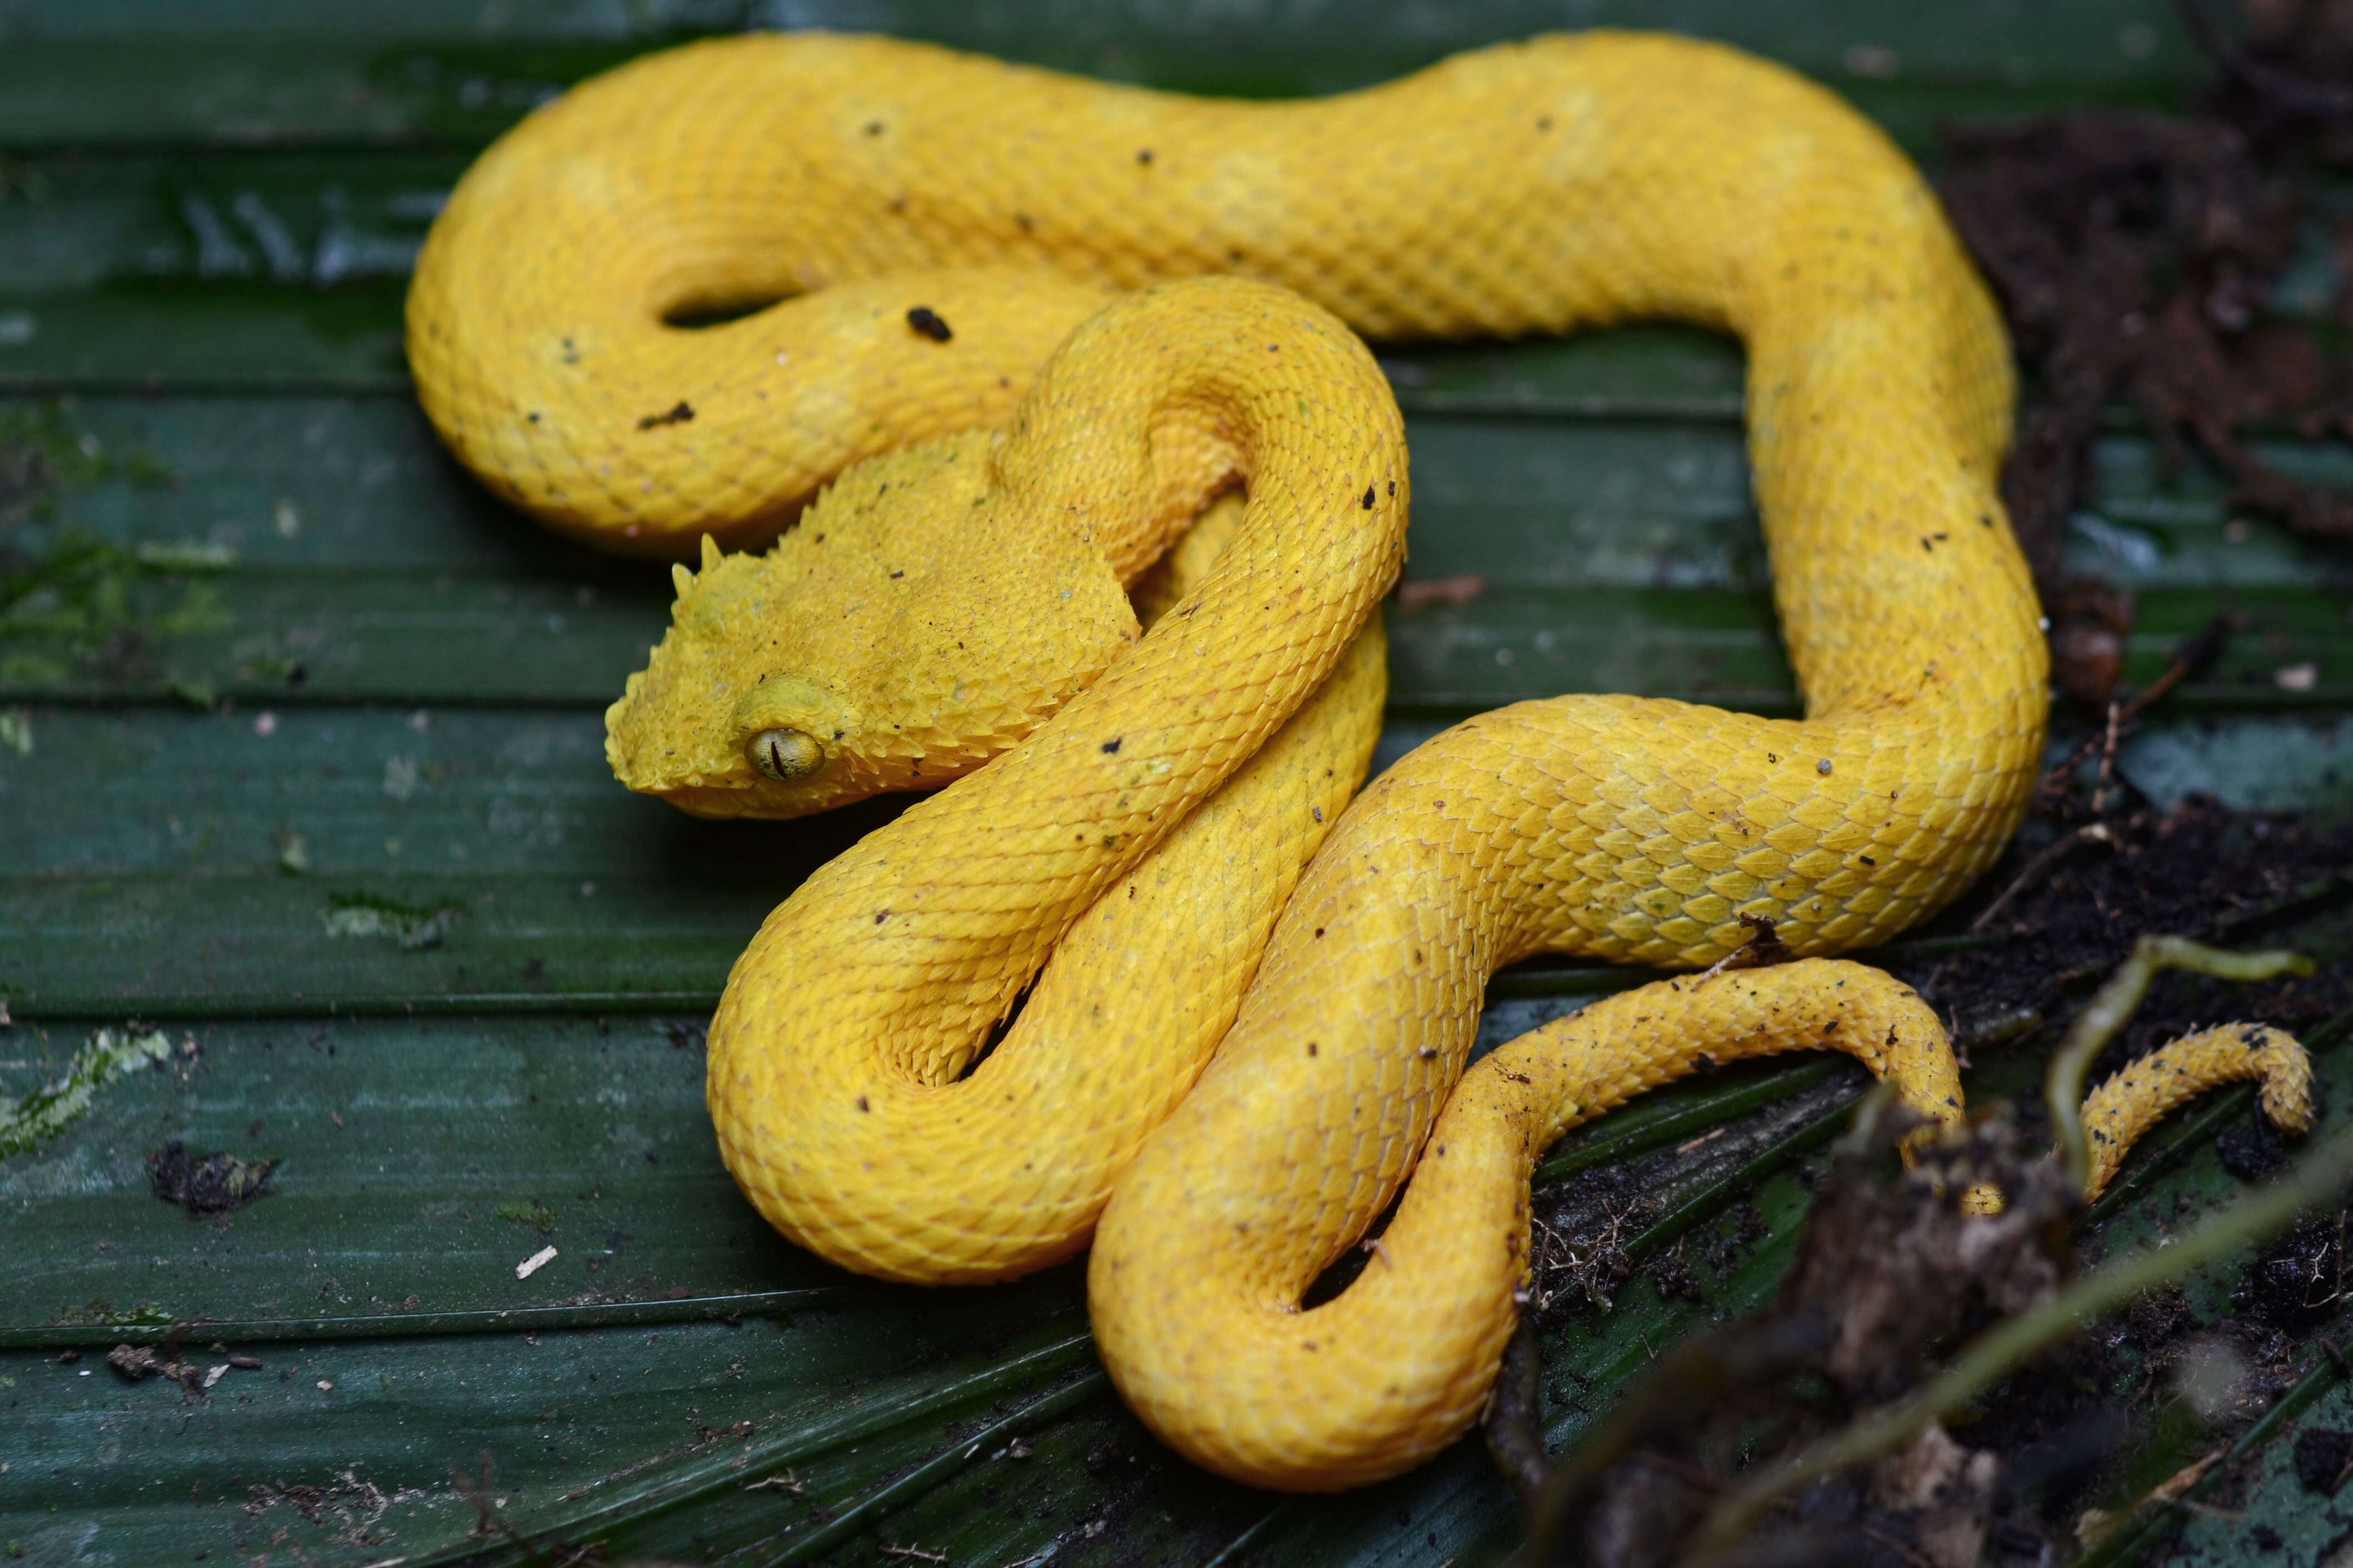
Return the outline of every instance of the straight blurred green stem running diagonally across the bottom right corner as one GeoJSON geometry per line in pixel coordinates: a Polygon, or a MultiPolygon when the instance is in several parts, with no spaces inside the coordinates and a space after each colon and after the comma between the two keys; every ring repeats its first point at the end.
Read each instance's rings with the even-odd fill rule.
{"type": "Polygon", "coordinates": [[[1941,1378],[1911,1399],[1847,1427],[1826,1443],[1814,1443],[1786,1465],[1777,1465],[1758,1476],[1708,1516],[1701,1533],[1704,1549],[1739,1540],[1760,1514],[1777,1507],[1798,1488],[1852,1465],[1894,1453],[1932,1420],[1958,1410],[1979,1389],[2007,1375],[2035,1352],[2057,1345],[2082,1324],[2122,1307],[2141,1291],[2202,1269],[2247,1241],[2268,1237],[2294,1220],[2297,1211],[2306,1204],[2334,1197],[2344,1190],[2346,1180],[2353,1180],[2353,1126],[2339,1128],[2278,1185],[2233,1204],[2167,1248],[2134,1253],[2120,1265],[2082,1276],[2033,1312],[2021,1312],[2014,1319],[1995,1324],[1941,1378]]]}

